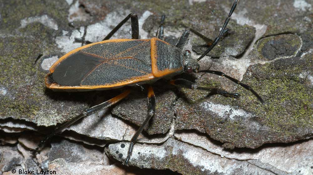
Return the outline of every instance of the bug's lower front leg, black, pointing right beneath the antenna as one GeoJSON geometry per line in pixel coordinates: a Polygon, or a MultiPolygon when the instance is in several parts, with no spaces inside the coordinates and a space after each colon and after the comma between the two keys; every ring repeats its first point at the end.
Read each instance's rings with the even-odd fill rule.
{"type": "Polygon", "coordinates": [[[196,83],[193,83],[189,80],[186,79],[182,79],[182,78],[178,78],[175,80],[170,80],[170,83],[174,86],[177,86],[179,88],[188,88],[188,89],[194,89],[194,90],[204,90],[204,91],[209,91],[212,93],[218,93],[221,94],[223,96],[230,96],[230,97],[234,97],[234,98],[238,98],[239,94],[238,93],[229,93],[226,91],[223,91],[221,89],[218,88],[209,88],[209,87],[202,87],[202,86],[197,86],[196,83]]]}

